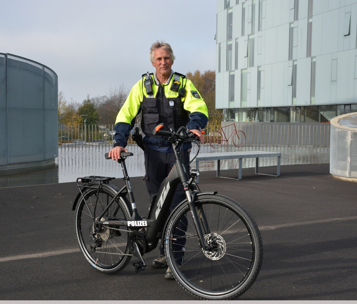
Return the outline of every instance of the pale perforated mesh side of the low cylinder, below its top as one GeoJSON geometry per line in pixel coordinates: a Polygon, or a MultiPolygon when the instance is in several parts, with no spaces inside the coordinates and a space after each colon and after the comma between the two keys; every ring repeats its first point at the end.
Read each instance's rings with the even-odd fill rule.
{"type": "Polygon", "coordinates": [[[330,173],[357,178],[357,131],[331,124],[330,173]]]}

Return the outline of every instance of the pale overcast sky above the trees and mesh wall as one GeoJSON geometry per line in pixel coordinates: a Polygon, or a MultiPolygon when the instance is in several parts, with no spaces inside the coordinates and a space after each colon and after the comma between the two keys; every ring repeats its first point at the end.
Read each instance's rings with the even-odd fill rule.
{"type": "Polygon", "coordinates": [[[0,53],[54,70],[66,100],[82,103],[154,68],[164,40],[181,74],[215,70],[216,0],[0,0],[0,53]]]}

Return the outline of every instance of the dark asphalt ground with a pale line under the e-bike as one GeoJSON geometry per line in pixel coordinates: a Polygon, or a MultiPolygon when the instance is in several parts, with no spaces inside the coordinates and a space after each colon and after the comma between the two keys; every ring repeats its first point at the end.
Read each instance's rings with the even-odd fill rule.
{"type": "MultiPolygon", "coordinates": [[[[238,170],[223,171],[237,176],[238,170]]],[[[276,167],[260,168],[275,173],[276,167]]],[[[336,180],[329,164],[281,166],[279,177],[243,169],[242,180],[201,172],[201,191],[241,203],[260,227],[263,264],[240,300],[357,299],[357,183],[336,180]]],[[[142,178],[131,178],[146,214],[142,178]],[[144,199],[140,199],[144,198],[144,199]]],[[[113,181],[121,185],[121,179],[113,181]]],[[[95,271],[74,235],[75,183],[0,189],[0,300],[195,300],[166,269],[130,263],[115,275],[95,271]]],[[[131,262],[136,261],[133,257],[131,262]]]]}

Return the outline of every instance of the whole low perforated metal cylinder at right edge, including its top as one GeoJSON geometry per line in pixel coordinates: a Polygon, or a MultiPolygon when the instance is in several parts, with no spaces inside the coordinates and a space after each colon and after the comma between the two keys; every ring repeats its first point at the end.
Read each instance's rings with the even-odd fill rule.
{"type": "Polygon", "coordinates": [[[330,173],[357,181],[357,113],[331,120],[330,173]]]}

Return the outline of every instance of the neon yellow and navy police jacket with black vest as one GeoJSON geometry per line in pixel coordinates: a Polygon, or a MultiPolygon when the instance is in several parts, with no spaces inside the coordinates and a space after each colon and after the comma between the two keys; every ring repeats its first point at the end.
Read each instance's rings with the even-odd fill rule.
{"type": "MultiPolygon", "coordinates": [[[[169,80],[161,85],[155,73],[149,74],[149,77],[152,79],[152,93],[146,92],[144,85],[146,74],[144,74],[133,86],[120,109],[115,122],[114,146],[127,145],[135,118],[142,112],[141,130],[145,145],[152,149],[170,152],[171,144],[161,136],[153,135],[154,128],[164,123],[164,130],[170,128],[177,130],[180,126],[186,126],[188,130],[201,130],[205,128],[208,121],[207,106],[195,86],[184,75],[171,70],[169,80]],[[181,88],[185,90],[182,91],[181,88]]],[[[185,148],[190,148],[190,145],[186,145],[185,148]]]]}

